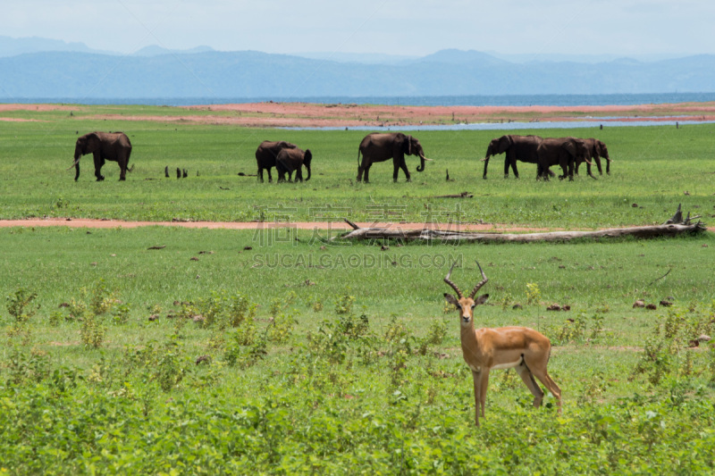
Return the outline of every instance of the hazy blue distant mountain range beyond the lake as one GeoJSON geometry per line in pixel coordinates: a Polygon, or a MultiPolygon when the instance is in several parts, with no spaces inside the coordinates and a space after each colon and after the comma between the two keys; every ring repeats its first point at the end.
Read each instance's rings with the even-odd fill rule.
{"type": "Polygon", "coordinates": [[[544,57],[442,50],[381,54],[93,51],[44,38],[0,37],[0,98],[468,96],[715,91],[715,55],[659,61],[544,57]],[[307,57],[309,56],[309,57],[307,57]],[[541,58],[541,59],[540,59],[541,58]]]}

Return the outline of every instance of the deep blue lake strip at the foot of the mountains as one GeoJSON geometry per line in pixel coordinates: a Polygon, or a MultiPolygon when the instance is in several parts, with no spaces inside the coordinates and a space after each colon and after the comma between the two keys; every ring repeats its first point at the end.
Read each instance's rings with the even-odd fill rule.
{"type": "Polygon", "coordinates": [[[386,104],[386,105],[633,105],[668,103],[703,103],[715,101],[715,93],[661,93],[608,95],[519,95],[519,96],[318,96],[318,97],[29,97],[2,98],[0,103],[21,104],[146,104],[200,105],[245,104],[267,101],[316,104],[386,104]]]}

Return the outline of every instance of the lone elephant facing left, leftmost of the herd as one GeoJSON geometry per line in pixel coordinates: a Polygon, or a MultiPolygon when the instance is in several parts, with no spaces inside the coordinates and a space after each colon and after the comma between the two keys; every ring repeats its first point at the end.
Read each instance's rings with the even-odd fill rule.
{"type": "Polygon", "coordinates": [[[123,132],[90,132],[77,139],[74,146],[74,163],[77,173],[74,180],[80,178],[80,158],[85,154],[93,154],[95,158],[95,177],[97,181],[105,180],[101,174],[106,160],[119,163],[119,180],[127,179],[127,171],[133,171],[134,166],[127,168],[131,154],[131,142],[123,132]]]}

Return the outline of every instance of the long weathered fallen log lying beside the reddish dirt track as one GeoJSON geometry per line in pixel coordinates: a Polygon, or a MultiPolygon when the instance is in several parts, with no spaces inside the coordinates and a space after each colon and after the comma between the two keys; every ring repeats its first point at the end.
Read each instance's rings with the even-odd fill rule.
{"type": "Polygon", "coordinates": [[[472,231],[453,230],[400,230],[388,228],[360,228],[355,223],[345,220],[352,228],[338,239],[401,239],[406,241],[440,240],[446,242],[465,243],[494,243],[494,242],[515,242],[534,243],[570,241],[578,238],[672,238],[687,234],[701,233],[707,230],[705,225],[697,223],[669,223],[664,225],[652,225],[641,227],[611,228],[607,230],[595,231],[551,231],[546,233],[476,233],[472,231]]]}

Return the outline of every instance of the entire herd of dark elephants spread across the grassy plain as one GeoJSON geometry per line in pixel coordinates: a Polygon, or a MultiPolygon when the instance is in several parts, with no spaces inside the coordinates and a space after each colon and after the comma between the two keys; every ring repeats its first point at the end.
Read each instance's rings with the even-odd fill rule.
{"type": "MultiPolygon", "coordinates": [[[[80,158],[85,154],[94,155],[95,177],[97,181],[105,180],[101,174],[105,161],[119,163],[119,180],[126,180],[127,171],[132,171],[133,166],[128,168],[131,154],[131,143],[126,134],[122,132],[90,132],[77,139],[74,149],[74,163],[70,168],[76,168],[74,180],[80,178],[80,158]]],[[[506,154],[504,160],[504,177],[509,177],[509,167],[518,178],[517,161],[525,163],[535,163],[537,166],[537,179],[548,180],[553,176],[549,170],[552,165],[559,165],[563,171],[560,179],[568,177],[573,180],[574,173],[578,173],[578,166],[581,163],[587,164],[588,175],[591,173],[592,160],[596,163],[599,173],[601,170],[601,157],[606,159],[606,172],[610,174],[610,162],[608,149],[600,140],[594,138],[540,138],[538,136],[502,136],[494,138],[489,143],[486,150],[484,162],[484,176],[489,165],[489,158],[492,155],[506,154]]],[[[416,155],[420,159],[417,171],[425,170],[425,151],[419,140],[413,136],[405,135],[401,132],[372,133],[366,135],[360,142],[357,150],[357,181],[369,181],[370,168],[373,163],[384,162],[392,159],[392,180],[397,181],[400,169],[404,171],[405,177],[410,181],[410,174],[405,155],[416,155]],[[362,155],[362,161],[360,161],[362,155]]],[[[268,172],[268,181],[273,181],[271,169],[275,167],[278,171],[278,181],[284,181],[288,174],[288,180],[292,181],[293,172],[296,174],[296,181],[303,181],[302,167],[307,170],[306,180],[310,180],[311,161],[313,154],[309,149],[303,150],[294,144],[286,141],[265,140],[256,150],[256,162],[258,165],[257,177],[264,181],[263,171],[268,172]]],[[[595,177],[593,177],[595,179],[595,177]]]]}

